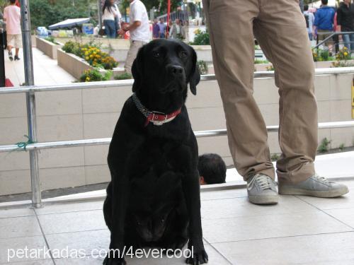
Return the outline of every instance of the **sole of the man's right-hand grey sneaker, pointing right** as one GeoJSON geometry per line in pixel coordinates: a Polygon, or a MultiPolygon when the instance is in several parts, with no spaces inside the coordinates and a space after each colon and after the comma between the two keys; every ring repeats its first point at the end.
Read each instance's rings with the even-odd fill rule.
{"type": "Polygon", "coordinates": [[[331,191],[310,191],[307,189],[294,189],[290,187],[279,187],[279,194],[282,195],[305,195],[313,196],[319,198],[336,198],[347,194],[349,192],[348,187],[343,187],[341,189],[334,189],[331,191]]]}

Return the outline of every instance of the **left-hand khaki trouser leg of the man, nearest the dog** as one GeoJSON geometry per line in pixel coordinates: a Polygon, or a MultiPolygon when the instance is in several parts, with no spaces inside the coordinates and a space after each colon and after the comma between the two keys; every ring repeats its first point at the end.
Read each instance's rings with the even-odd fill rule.
{"type": "Polygon", "coordinates": [[[204,0],[212,58],[227,122],[229,148],[244,180],[275,177],[265,122],[253,98],[253,18],[258,0],[204,0]]]}

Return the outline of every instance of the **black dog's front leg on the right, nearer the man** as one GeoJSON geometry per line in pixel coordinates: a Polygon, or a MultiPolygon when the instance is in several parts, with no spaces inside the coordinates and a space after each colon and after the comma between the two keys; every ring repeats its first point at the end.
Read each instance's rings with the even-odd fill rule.
{"type": "Polygon", "coordinates": [[[185,203],[189,216],[188,249],[193,256],[186,259],[187,264],[205,264],[208,261],[202,242],[202,221],[200,217],[200,184],[198,170],[187,175],[182,180],[185,203]]]}

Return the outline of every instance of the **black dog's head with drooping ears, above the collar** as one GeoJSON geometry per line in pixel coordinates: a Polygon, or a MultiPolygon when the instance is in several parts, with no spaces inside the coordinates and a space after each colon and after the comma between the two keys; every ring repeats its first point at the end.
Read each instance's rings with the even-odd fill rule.
{"type": "Polygon", "coordinates": [[[153,40],[139,49],[132,65],[133,92],[195,95],[200,81],[195,50],[176,40],[153,40]],[[144,91],[145,90],[145,91],[144,91]],[[149,90],[149,91],[147,91],[149,90]]]}

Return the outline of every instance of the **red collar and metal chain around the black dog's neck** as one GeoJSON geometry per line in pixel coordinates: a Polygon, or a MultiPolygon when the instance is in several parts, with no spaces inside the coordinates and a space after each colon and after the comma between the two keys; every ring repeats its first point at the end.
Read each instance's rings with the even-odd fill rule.
{"type": "Polygon", "coordinates": [[[178,114],[181,113],[181,109],[178,109],[170,114],[150,111],[146,107],[144,107],[144,105],[142,105],[142,102],[140,102],[139,98],[137,98],[137,95],[135,95],[135,93],[132,95],[132,100],[134,101],[135,106],[137,107],[139,112],[142,112],[142,114],[147,117],[144,126],[147,126],[149,122],[152,122],[156,126],[163,125],[167,122],[171,122],[174,118],[177,117],[178,114]]]}

